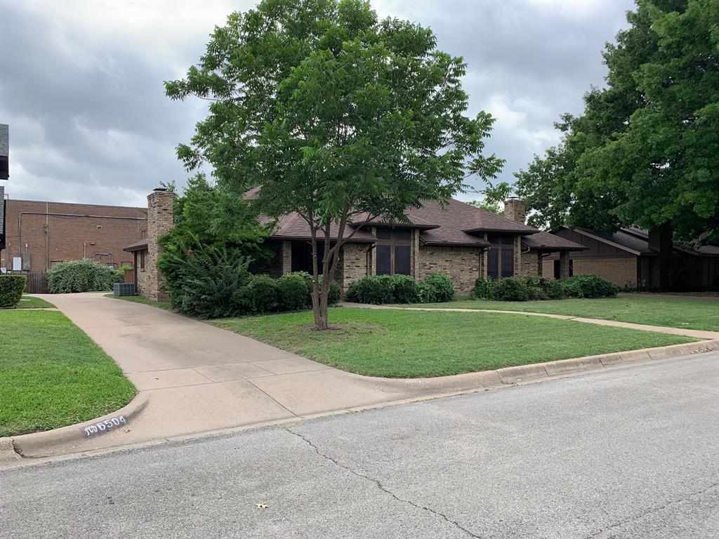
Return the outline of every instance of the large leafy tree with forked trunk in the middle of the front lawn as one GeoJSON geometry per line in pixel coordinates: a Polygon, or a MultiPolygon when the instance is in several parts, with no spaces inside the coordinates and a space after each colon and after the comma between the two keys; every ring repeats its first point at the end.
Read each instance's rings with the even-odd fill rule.
{"type": "Polygon", "coordinates": [[[468,175],[502,166],[482,155],[493,119],[466,116],[462,58],[431,30],[380,21],[367,1],[264,0],[216,28],[168,96],[211,99],[178,156],[209,162],[219,185],[262,185],[267,216],[296,212],[311,231],[316,328],[343,244],[371,218],[406,221],[423,200],[446,201],[468,175]],[[318,259],[319,244],[324,257],[318,259]]]}

